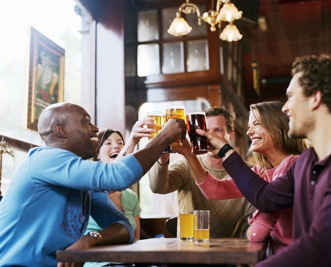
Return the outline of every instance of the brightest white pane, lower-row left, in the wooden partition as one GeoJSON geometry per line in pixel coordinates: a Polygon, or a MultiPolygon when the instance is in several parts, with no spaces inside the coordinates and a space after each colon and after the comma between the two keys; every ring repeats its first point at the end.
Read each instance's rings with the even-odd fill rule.
{"type": "Polygon", "coordinates": [[[158,44],[138,45],[138,76],[156,75],[160,73],[158,44]]]}

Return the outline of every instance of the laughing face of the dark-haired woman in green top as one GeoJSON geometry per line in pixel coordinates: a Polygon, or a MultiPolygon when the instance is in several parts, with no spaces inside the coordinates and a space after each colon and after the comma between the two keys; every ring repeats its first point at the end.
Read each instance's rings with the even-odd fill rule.
{"type": "Polygon", "coordinates": [[[114,132],[105,140],[99,150],[98,158],[102,162],[111,163],[124,146],[121,136],[114,132]]]}

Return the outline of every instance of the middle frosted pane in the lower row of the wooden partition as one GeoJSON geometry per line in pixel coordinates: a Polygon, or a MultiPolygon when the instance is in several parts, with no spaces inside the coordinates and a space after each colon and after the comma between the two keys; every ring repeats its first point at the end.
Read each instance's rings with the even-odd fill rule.
{"type": "Polygon", "coordinates": [[[184,72],[183,43],[163,44],[162,73],[184,72]]]}

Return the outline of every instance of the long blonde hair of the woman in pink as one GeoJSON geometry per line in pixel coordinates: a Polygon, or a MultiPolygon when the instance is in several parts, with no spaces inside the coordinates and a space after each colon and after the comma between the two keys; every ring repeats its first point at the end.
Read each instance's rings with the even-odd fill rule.
{"type": "MultiPolygon", "coordinates": [[[[280,153],[301,154],[307,148],[306,141],[304,138],[290,138],[287,135],[289,119],[282,112],[283,106],[284,103],[279,101],[261,102],[252,104],[250,113],[253,113],[259,124],[268,131],[280,153]]],[[[265,155],[253,152],[251,147],[247,154],[253,155],[254,161],[260,166],[261,176],[274,167],[265,155]]]]}

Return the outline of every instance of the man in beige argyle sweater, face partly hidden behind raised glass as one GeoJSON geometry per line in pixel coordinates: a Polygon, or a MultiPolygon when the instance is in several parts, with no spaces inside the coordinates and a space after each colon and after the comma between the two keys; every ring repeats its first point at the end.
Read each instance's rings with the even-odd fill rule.
{"type": "MultiPolygon", "coordinates": [[[[224,108],[212,107],[205,110],[207,129],[217,135],[232,139],[234,135],[233,118],[224,108]]],[[[189,142],[185,141],[184,146],[189,142]]],[[[184,157],[169,165],[169,154],[162,154],[148,171],[149,186],[153,193],[168,194],[178,191],[179,211],[209,210],[210,237],[240,237],[249,226],[247,218],[255,207],[244,198],[227,200],[208,200],[196,185],[186,157],[196,157],[185,147],[172,147],[184,157]]],[[[226,179],[229,174],[221,166],[222,159],[208,152],[198,156],[202,165],[217,179],[226,179]]]]}

